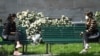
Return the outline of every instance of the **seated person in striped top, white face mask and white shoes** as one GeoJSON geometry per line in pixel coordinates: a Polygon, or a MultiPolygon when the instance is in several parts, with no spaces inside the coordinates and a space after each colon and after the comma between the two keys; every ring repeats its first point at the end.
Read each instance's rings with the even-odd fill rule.
{"type": "Polygon", "coordinates": [[[87,52],[89,48],[88,43],[91,41],[91,39],[92,41],[95,41],[95,39],[98,40],[98,37],[99,37],[99,35],[96,37],[91,37],[92,35],[96,35],[99,32],[97,29],[97,23],[93,18],[93,13],[92,12],[86,13],[85,19],[86,19],[86,30],[82,32],[84,49],[80,53],[87,52]]]}

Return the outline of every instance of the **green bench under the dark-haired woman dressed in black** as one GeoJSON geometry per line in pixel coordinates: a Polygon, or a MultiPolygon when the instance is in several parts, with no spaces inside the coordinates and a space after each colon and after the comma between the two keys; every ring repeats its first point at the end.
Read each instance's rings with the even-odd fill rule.
{"type": "MultiPolygon", "coordinates": [[[[15,44],[15,43],[13,43],[12,41],[4,41],[3,39],[2,39],[2,30],[3,30],[3,27],[1,26],[0,27],[0,45],[4,45],[4,44],[7,44],[7,45],[9,45],[9,44],[15,44]]],[[[31,42],[30,40],[27,40],[27,36],[26,36],[26,28],[25,27],[18,27],[18,30],[19,30],[19,32],[21,33],[21,35],[20,35],[20,41],[21,41],[21,43],[22,43],[22,52],[23,53],[26,53],[27,52],[27,45],[31,42]]]]}

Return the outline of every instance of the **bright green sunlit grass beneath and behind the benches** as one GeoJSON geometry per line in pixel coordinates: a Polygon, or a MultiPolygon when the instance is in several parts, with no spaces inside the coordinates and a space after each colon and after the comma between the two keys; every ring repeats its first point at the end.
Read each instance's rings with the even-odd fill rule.
{"type": "MultiPolygon", "coordinates": [[[[56,56],[100,56],[100,44],[90,43],[91,49],[89,49],[86,54],[79,54],[82,50],[82,43],[71,43],[71,44],[53,44],[51,51],[56,56]]],[[[8,54],[12,54],[14,50],[13,45],[4,45],[4,49],[0,49],[1,52],[6,51],[8,54]]],[[[45,44],[40,45],[28,45],[27,54],[45,54],[46,46],[45,44]]],[[[21,51],[21,49],[20,49],[21,51]]]]}

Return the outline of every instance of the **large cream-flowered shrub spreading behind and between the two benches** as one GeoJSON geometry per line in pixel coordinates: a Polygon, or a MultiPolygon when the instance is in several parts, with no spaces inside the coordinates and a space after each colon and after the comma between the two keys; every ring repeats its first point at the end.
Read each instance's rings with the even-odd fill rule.
{"type": "Polygon", "coordinates": [[[26,27],[27,36],[32,36],[40,29],[42,25],[44,26],[70,26],[71,21],[68,17],[64,15],[61,16],[60,19],[50,19],[49,17],[45,17],[42,12],[34,12],[34,11],[22,11],[17,13],[18,26],[26,27]]]}

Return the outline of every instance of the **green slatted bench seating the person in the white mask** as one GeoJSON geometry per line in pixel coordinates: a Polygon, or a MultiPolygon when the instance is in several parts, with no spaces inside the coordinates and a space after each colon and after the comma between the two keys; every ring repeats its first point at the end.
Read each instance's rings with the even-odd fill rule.
{"type": "Polygon", "coordinates": [[[82,43],[80,32],[85,30],[85,26],[42,26],[41,29],[42,40],[46,43],[46,53],[50,53],[51,44],[54,43],[82,43]]]}

